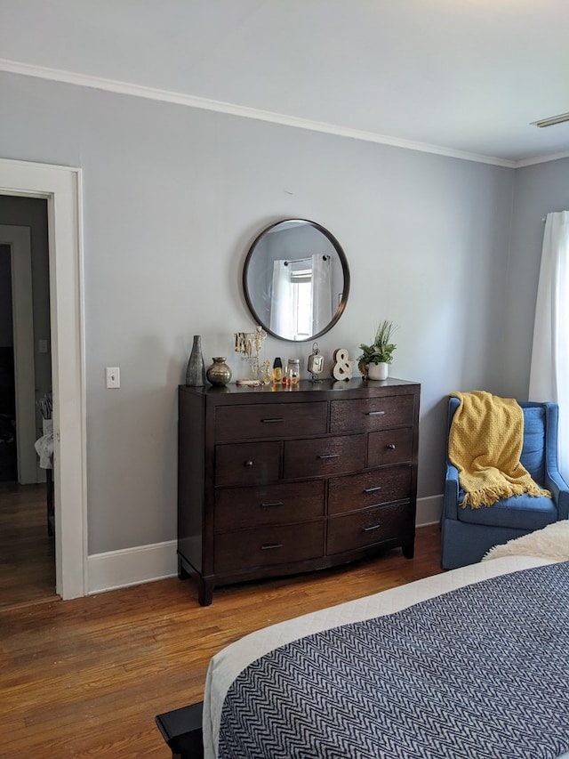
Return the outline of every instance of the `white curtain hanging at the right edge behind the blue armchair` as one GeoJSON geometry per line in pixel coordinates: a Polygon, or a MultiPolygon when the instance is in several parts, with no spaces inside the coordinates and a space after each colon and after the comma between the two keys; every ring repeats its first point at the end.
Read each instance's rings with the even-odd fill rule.
{"type": "Polygon", "coordinates": [[[569,481],[569,211],[545,220],[529,398],[559,405],[559,469],[569,481]]]}

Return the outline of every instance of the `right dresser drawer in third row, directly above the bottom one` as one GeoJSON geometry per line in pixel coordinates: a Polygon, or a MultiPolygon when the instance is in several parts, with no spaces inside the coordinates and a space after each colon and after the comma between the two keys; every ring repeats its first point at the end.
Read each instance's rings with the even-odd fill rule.
{"type": "Polygon", "coordinates": [[[334,477],[328,489],[328,513],[353,512],[411,497],[411,467],[394,466],[334,477]]]}

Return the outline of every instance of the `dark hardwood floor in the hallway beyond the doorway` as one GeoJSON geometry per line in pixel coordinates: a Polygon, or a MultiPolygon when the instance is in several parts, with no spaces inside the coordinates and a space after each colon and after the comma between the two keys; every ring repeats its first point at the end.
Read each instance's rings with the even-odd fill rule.
{"type": "Polygon", "coordinates": [[[0,482],[0,610],[55,598],[45,485],[0,482]]]}

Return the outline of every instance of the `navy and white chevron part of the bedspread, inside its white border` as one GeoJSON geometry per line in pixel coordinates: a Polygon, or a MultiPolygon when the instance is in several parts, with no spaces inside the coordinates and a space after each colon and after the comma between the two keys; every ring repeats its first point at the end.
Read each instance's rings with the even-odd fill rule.
{"type": "Polygon", "coordinates": [[[569,749],[569,562],[309,635],[236,678],[220,759],[553,759],[569,749]]]}

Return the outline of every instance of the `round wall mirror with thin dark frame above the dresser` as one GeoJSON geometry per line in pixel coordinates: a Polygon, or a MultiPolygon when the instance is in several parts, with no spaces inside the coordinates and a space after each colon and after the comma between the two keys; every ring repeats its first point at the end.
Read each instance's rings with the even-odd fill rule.
{"type": "Polygon", "coordinates": [[[270,335],[302,342],[340,319],[349,295],[349,268],[336,238],[306,219],[262,230],[244,263],[244,295],[270,335]]]}

